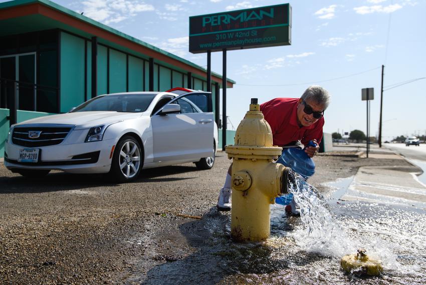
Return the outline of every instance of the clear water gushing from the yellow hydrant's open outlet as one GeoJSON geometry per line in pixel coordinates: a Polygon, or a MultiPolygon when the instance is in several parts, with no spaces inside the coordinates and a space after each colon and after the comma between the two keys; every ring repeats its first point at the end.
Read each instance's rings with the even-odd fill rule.
{"type": "Polygon", "coordinates": [[[355,253],[359,247],[364,247],[370,257],[381,259],[388,269],[396,269],[400,265],[396,261],[396,255],[392,253],[391,244],[374,236],[364,237],[363,244],[354,238],[363,235],[363,225],[351,228],[349,236],[337,223],[323,195],[293,171],[290,173],[289,192],[293,193],[296,203],[300,206],[301,221],[304,225],[291,236],[303,250],[341,258],[345,254],[355,253]]]}

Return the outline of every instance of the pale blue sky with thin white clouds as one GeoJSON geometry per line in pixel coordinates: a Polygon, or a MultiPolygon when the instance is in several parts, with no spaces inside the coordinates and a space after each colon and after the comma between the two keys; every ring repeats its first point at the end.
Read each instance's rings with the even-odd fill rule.
{"type": "MultiPolygon", "coordinates": [[[[55,0],[119,31],[206,67],[188,51],[189,16],[282,3],[292,6],[291,45],[227,52],[228,128],[250,98],[300,97],[310,85],[331,94],[324,132],[366,132],[361,89],[374,88],[370,135],[378,134],[384,65],[383,140],[426,134],[426,0],[55,0]],[[401,83],[401,84],[398,84],[401,83]]],[[[222,52],[212,52],[222,74],[222,52]]],[[[221,98],[222,105],[222,98],[221,98]]]]}

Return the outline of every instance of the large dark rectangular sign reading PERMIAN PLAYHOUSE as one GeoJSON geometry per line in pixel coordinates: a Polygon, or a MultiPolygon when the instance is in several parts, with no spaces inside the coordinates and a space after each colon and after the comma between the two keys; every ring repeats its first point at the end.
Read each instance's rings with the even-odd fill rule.
{"type": "Polygon", "coordinates": [[[189,17],[192,53],[289,44],[290,4],[189,17]]]}

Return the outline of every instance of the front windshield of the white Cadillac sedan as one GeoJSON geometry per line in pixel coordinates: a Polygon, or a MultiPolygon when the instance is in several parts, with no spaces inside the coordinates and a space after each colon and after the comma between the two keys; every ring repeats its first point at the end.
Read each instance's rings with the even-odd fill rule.
{"type": "Polygon", "coordinates": [[[95,97],[71,112],[87,111],[116,111],[116,112],[143,112],[157,93],[145,94],[117,94],[95,97]]]}

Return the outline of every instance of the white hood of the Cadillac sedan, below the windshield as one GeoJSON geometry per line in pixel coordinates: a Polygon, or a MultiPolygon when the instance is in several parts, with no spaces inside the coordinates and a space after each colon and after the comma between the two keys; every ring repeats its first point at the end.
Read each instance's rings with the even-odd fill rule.
{"type": "Polygon", "coordinates": [[[140,117],[142,113],[123,113],[116,111],[71,112],[43,116],[23,121],[22,124],[73,124],[75,129],[89,128],[100,124],[108,124],[121,120],[140,117]]]}

